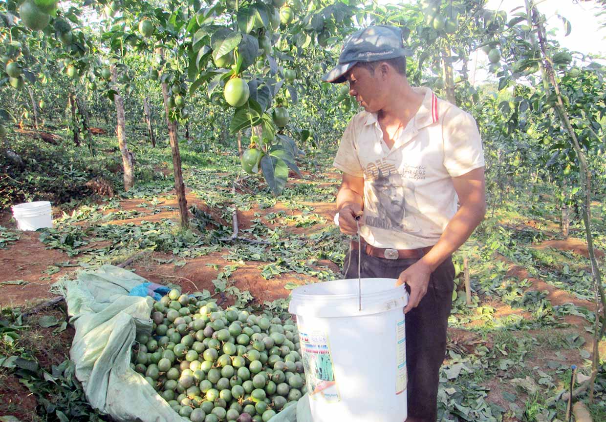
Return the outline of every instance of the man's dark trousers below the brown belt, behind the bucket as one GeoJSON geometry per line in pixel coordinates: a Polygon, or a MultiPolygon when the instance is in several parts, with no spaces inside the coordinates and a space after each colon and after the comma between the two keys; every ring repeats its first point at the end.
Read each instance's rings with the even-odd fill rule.
{"type": "MultiPolygon", "coordinates": [[[[363,278],[395,278],[417,259],[385,259],[362,252],[363,278]]],[[[358,251],[345,258],[345,278],[358,278],[358,251]],[[348,260],[351,259],[351,264],[348,260]]],[[[449,257],[436,268],[418,307],[406,314],[408,416],[435,422],[439,369],[446,354],[446,328],[452,304],[454,265],[449,257]]]]}

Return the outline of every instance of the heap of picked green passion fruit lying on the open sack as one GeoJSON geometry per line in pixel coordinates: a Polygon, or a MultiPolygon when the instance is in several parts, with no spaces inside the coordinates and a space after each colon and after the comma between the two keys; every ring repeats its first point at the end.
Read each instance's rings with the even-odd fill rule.
{"type": "MultiPolygon", "coordinates": [[[[253,154],[257,163],[262,151],[253,154]]],[[[136,337],[131,368],[191,422],[268,421],[307,391],[290,320],[222,310],[176,290],[150,317],[153,330],[136,337]]]]}

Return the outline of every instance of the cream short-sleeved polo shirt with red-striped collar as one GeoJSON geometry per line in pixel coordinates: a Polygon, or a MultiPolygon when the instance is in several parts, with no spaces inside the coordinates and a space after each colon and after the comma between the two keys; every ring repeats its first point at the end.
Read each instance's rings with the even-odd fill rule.
{"type": "Polygon", "coordinates": [[[457,210],[453,177],[484,166],[476,122],[428,88],[419,111],[389,149],[376,113],[349,122],[334,166],[364,177],[362,237],[381,248],[434,245],[457,210]]]}

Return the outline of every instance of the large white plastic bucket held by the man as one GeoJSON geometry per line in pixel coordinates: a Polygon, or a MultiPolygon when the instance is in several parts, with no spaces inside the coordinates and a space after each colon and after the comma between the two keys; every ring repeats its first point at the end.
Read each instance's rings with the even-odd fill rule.
{"type": "Polygon", "coordinates": [[[404,422],[407,418],[404,285],[364,278],[298,287],[297,316],[314,422],[404,422]]]}

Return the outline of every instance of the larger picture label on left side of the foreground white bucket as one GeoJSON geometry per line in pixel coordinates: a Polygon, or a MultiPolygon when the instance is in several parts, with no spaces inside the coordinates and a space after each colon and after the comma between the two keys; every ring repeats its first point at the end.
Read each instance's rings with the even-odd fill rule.
{"type": "Polygon", "coordinates": [[[327,403],[341,401],[326,333],[300,329],[299,339],[309,397],[327,403]]]}

